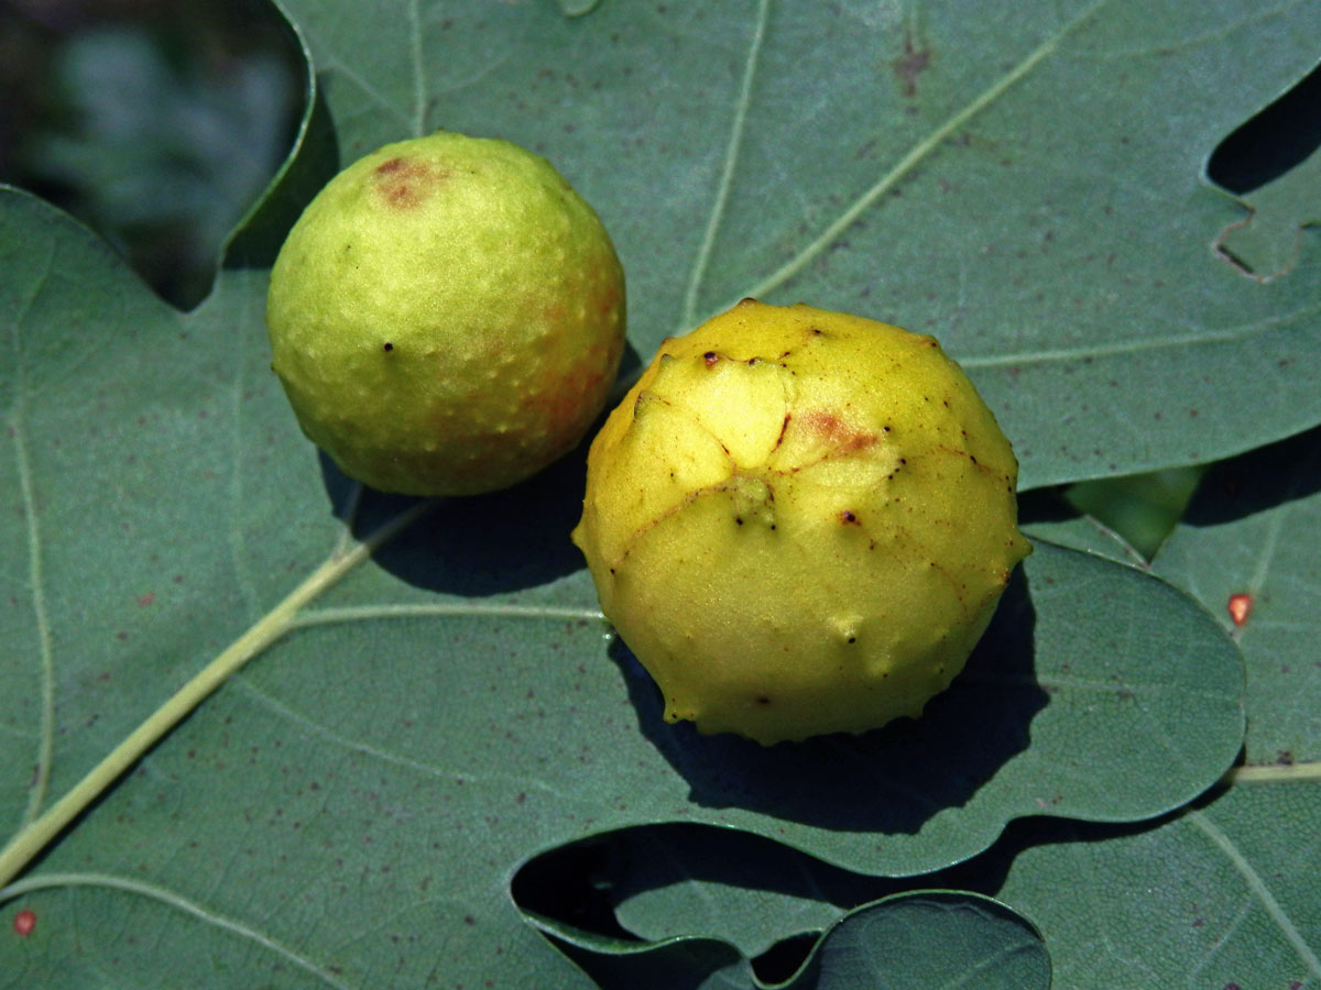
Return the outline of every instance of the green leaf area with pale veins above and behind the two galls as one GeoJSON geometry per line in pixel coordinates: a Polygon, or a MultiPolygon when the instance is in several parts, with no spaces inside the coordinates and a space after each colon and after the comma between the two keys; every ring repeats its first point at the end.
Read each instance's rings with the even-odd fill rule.
{"type": "Polygon", "coordinates": [[[548,156],[616,238],[645,359],[744,296],[935,333],[1025,488],[1321,418],[1321,256],[1246,276],[1215,244],[1248,207],[1203,174],[1313,66],[1313,4],[288,8],[345,161],[436,127],[548,156]]]}

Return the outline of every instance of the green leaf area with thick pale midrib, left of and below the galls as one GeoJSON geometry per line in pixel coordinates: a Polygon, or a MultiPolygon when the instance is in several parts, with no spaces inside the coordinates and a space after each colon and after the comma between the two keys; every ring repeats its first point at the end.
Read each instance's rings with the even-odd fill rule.
{"type": "Polygon", "coordinates": [[[567,543],[580,461],[421,521],[355,498],[264,368],[259,275],[223,273],[180,315],[38,201],[7,194],[0,216],[5,525],[26,548],[8,577],[29,590],[5,614],[3,855],[46,846],[61,796],[102,793],[118,770],[98,760],[127,737],[132,772],[18,882],[44,917],[110,925],[100,944],[127,936],[98,906],[145,899],[254,979],[297,957],[349,985],[395,965],[416,983],[432,962],[400,956],[411,939],[466,946],[464,978],[538,960],[565,981],[509,898],[539,849],[704,821],[917,873],[1017,816],[1157,814],[1238,750],[1221,630],[1149,577],[1049,545],[917,723],[778,748],[666,726],[567,543]],[[263,651],[136,760],[131,730],[182,717],[161,705],[185,678],[263,651]]]}

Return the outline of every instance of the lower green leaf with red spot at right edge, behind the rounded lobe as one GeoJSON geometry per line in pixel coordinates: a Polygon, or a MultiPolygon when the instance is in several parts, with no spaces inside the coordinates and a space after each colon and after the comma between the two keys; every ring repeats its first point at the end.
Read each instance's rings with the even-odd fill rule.
{"type": "Polygon", "coordinates": [[[1059,987],[1321,986],[1318,469],[1316,429],[1211,466],[1153,561],[1243,652],[1248,766],[1159,829],[1062,826],[1018,854],[997,895],[1041,925],[1059,987]]]}

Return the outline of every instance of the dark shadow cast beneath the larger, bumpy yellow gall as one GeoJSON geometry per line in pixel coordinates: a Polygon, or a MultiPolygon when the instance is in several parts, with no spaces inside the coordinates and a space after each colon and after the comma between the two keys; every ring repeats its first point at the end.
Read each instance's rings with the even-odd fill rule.
{"type": "Polygon", "coordinates": [[[1028,748],[1032,719],[1049,701],[1034,675],[1034,626],[1020,568],[963,673],[922,718],[771,747],[666,725],[651,677],[618,640],[610,653],[642,733],[688,781],[694,803],[827,829],[914,834],[1028,748]]]}

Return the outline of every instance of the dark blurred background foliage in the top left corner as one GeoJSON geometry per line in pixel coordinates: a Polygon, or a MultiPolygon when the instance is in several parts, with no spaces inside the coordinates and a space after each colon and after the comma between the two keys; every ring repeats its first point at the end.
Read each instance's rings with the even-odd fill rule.
{"type": "Polygon", "coordinates": [[[256,0],[7,0],[0,180],[98,230],[190,309],[288,153],[300,74],[256,0]]]}

